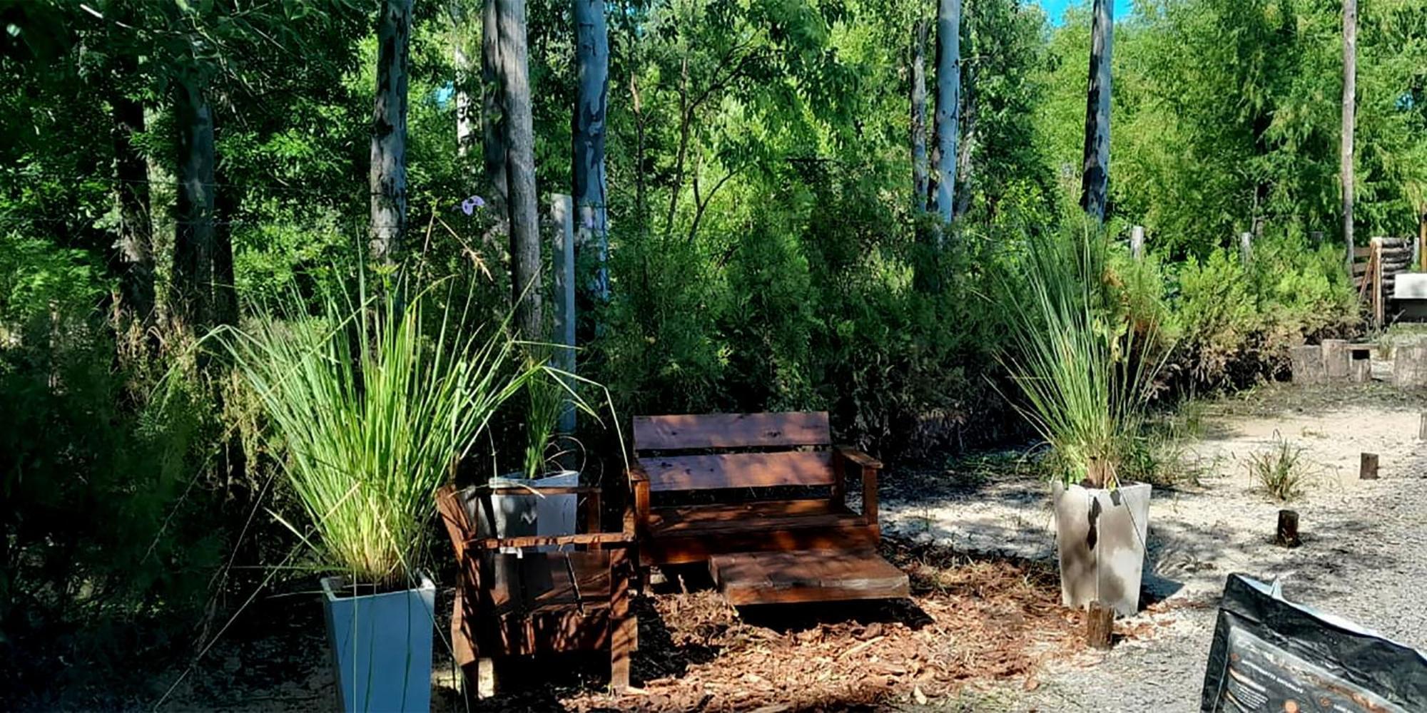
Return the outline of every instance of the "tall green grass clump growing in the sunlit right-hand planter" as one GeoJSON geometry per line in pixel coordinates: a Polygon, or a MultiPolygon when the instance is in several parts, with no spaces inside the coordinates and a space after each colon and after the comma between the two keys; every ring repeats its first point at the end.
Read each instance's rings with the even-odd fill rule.
{"type": "Polygon", "coordinates": [[[1150,452],[1142,426],[1163,359],[1149,354],[1154,328],[1139,334],[1114,309],[1093,228],[1033,240],[1022,264],[1013,351],[1002,358],[1023,396],[1016,408],[1052,448],[1052,479],[1113,489],[1150,452]]]}

